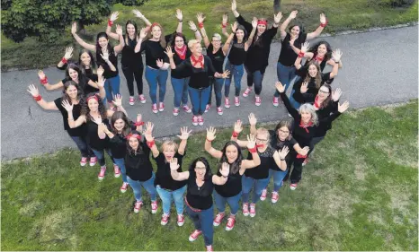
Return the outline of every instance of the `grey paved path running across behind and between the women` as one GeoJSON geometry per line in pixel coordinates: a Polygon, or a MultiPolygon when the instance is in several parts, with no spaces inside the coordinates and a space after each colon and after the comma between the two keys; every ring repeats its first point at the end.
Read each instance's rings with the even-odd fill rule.
{"type": "MultiPolygon", "coordinates": [[[[352,108],[362,108],[417,98],[417,38],[417,26],[325,38],[334,48],[343,50],[343,69],[333,84],[334,88],[343,89],[342,100],[350,100],[352,108]]],[[[272,106],[272,91],[277,80],[275,66],[280,48],[280,44],[272,44],[260,107],[254,106],[252,94],[241,99],[239,108],[233,106],[225,109],[221,117],[215,109],[211,109],[205,114],[204,126],[192,126],[190,115],[185,116],[183,112],[178,117],[172,115],[173,91],[170,84],[166,92],[165,112],[154,115],[151,113],[149,99],[146,104],[137,102],[135,106],[129,106],[125,78],[120,74],[125,108],[131,117],[140,112],[145,120],[153,121],[156,136],[175,135],[180,126],[191,126],[195,132],[207,126],[232,126],[236,119],[246,119],[249,112],[254,112],[259,121],[279,120],[286,116],[286,112],[283,106],[272,106]]],[[[64,75],[56,68],[45,69],[45,72],[52,83],[64,75]]],[[[75,146],[63,130],[60,113],[40,109],[26,92],[29,83],[38,83],[36,73],[37,70],[28,70],[2,74],[2,160],[75,146]]],[[[242,89],[245,89],[245,78],[242,89]]],[[[48,92],[43,88],[40,88],[40,92],[46,100],[54,100],[61,95],[60,91],[48,92]]]]}

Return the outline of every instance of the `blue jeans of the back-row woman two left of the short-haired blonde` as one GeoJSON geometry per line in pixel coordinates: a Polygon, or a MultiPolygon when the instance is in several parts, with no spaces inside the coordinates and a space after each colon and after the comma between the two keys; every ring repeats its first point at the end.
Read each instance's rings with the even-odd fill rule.
{"type": "Polygon", "coordinates": [[[151,102],[157,103],[157,84],[158,84],[158,101],[165,100],[165,85],[167,82],[167,70],[153,69],[149,66],[146,67],[146,80],[150,92],[151,102]]]}

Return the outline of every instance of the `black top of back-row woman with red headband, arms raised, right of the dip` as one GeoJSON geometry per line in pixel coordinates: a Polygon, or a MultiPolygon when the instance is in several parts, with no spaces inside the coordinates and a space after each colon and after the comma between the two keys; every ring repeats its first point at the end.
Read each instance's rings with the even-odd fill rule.
{"type": "MultiPolygon", "coordinates": [[[[239,24],[245,26],[247,33],[250,34],[250,32],[252,32],[252,23],[246,22],[241,15],[239,15],[236,20],[239,24]]],[[[257,34],[254,34],[254,40],[247,50],[247,57],[245,60],[245,66],[250,72],[253,73],[260,70],[264,73],[266,66],[268,66],[271,42],[277,31],[278,27],[275,28],[272,26],[271,29],[266,29],[259,37],[257,37],[257,34]]]]}

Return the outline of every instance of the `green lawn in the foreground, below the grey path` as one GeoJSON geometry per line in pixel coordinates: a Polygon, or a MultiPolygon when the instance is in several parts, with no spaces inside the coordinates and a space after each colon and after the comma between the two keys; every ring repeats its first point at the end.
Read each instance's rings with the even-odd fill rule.
{"type": "MultiPolygon", "coordinates": [[[[286,183],[277,204],[260,202],[254,218],[239,212],[235,230],[224,230],[225,222],[215,228],[214,248],[417,251],[417,109],[415,100],[340,117],[304,168],[298,189],[290,191],[286,183]]],[[[220,148],[230,134],[220,130],[214,145],[220,148]]],[[[183,169],[198,156],[209,158],[204,139],[192,135],[183,169]]],[[[108,170],[98,182],[98,167],[81,169],[78,159],[77,152],[64,150],[3,163],[2,250],[204,248],[202,238],[188,241],[191,220],[177,227],[172,218],[161,226],[161,205],[152,215],[147,195],[146,206],[133,213],[132,190],[121,194],[120,178],[108,170]]],[[[209,161],[215,169],[217,161],[209,161]]]]}

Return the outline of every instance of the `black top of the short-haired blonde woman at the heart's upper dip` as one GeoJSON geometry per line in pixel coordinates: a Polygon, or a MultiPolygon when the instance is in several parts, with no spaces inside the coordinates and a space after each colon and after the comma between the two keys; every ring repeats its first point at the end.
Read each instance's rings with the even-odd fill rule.
{"type": "Polygon", "coordinates": [[[178,72],[184,77],[191,76],[189,86],[194,89],[203,89],[209,87],[209,76],[214,76],[216,70],[212,65],[209,56],[204,56],[204,67],[196,68],[192,66],[191,57],[183,60],[181,65],[177,65],[172,73],[178,72]]]}

